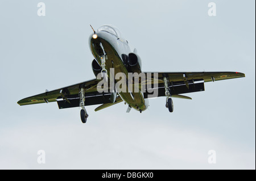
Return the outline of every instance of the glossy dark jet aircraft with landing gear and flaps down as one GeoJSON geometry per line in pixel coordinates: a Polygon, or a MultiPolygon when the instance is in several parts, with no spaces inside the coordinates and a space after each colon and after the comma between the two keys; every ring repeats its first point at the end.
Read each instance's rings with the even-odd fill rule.
{"type": "Polygon", "coordinates": [[[117,28],[104,25],[89,36],[94,56],[92,70],[95,79],[77,83],[19,100],[20,106],[57,102],[59,109],[81,107],[81,120],[86,123],[85,106],[101,104],[95,111],[125,102],[142,112],[148,107],[148,98],[166,96],[166,107],[174,111],[172,97],[191,99],[180,95],[204,91],[204,82],[245,77],[239,72],[144,72],[137,50],[132,52],[128,42],[117,28]]]}

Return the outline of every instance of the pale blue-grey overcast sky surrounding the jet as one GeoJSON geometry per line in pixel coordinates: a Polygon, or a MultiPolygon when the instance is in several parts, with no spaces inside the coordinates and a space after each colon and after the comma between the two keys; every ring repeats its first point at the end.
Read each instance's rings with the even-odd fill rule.
{"type": "Polygon", "coordinates": [[[255,169],[255,1],[0,1],[0,169],[255,169]],[[38,16],[38,3],[46,16],[38,16]],[[216,16],[209,16],[209,2],[216,16]],[[94,78],[89,24],[113,24],[143,71],[240,71],[193,100],[94,112],[16,102],[94,78]],[[38,163],[44,150],[46,163],[38,163]],[[209,150],[216,151],[210,164],[209,150]]]}

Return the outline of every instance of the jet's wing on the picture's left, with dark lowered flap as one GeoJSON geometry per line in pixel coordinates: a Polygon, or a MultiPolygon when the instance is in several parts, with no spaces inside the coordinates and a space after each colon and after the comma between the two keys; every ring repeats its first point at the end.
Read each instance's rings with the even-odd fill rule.
{"type": "Polygon", "coordinates": [[[110,93],[99,93],[97,91],[98,82],[100,82],[100,80],[92,79],[90,81],[77,83],[76,85],[63,87],[61,89],[46,91],[42,94],[30,96],[28,98],[19,100],[18,104],[20,106],[24,106],[28,104],[57,102],[60,109],[79,107],[79,89],[81,87],[84,87],[86,90],[85,106],[110,103],[110,93]]]}

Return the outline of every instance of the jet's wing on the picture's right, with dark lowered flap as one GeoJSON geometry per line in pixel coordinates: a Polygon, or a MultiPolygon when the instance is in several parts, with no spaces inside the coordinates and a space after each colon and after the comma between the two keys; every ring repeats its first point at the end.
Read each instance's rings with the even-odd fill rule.
{"type": "MultiPolygon", "coordinates": [[[[147,74],[148,72],[145,73],[147,74]]],[[[152,98],[165,95],[163,81],[164,77],[167,77],[170,82],[169,89],[172,95],[204,91],[204,82],[214,82],[225,79],[245,77],[245,74],[243,73],[232,71],[159,72],[155,74],[158,75],[158,77],[154,77],[154,72],[151,72],[152,77],[150,80],[151,82],[149,83],[151,87],[146,88],[146,91],[144,92],[144,98],[152,98]],[[155,80],[155,83],[153,80],[155,80]],[[152,94],[151,92],[153,90],[157,90],[158,94],[152,94]]]]}

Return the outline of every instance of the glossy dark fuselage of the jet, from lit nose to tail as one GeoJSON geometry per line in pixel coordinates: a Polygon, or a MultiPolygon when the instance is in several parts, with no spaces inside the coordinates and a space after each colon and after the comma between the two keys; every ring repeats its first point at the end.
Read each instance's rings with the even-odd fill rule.
{"type": "MultiPolygon", "coordinates": [[[[112,27],[107,26],[107,28],[112,27]]],[[[127,59],[129,59],[129,53],[132,52],[125,39],[118,37],[117,32],[111,33],[109,30],[104,31],[103,29],[102,31],[97,31],[89,36],[89,45],[92,54],[99,65],[102,65],[102,57],[105,57],[104,68],[107,71],[108,78],[110,76],[116,77],[118,73],[122,73],[125,75],[125,82],[128,82],[129,70],[127,69],[127,59]],[[110,71],[110,68],[114,69],[110,71]],[[113,73],[113,70],[114,75],[110,75],[111,72],[113,73]]],[[[115,80],[114,83],[116,82],[117,80],[115,80]]],[[[122,100],[135,110],[146,110],[148,107],[148,100],[143,98],[143,92],[131,91],[128,83],[125,85],[125,91],[123,91],[123,87],[121,89],[119,86],[115,86],[117,87],[117,94],[122,100]]]]}

